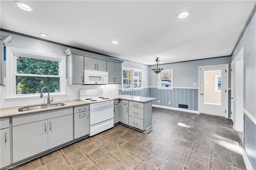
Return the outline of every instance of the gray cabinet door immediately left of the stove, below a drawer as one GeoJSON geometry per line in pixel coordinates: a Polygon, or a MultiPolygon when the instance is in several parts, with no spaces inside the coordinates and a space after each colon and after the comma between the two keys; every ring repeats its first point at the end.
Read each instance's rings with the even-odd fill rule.
{"type": "Polygon", "coordinates": [[[90,133],[89,111],[74,114],[74,138],[90,133]]]}

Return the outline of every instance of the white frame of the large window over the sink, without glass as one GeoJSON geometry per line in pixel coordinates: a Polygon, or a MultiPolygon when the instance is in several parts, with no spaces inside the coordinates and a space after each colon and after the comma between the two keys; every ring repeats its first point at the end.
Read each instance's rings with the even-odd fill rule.
{"type": "MultiPolygon", "coordinates": [[[[16,94],[16,76],[36,76],[36,77],[60,77],[60,92],[50,93],[50,95],[66,95],[66,56],[46,54],[36,51],[6,47],[6,99],[31,98],[39,97],[39,93],[33,94],[16,94]],[[37,75],[37,74],[20,74],[17,73],[16,57],[30,57],[36,59],[45,59],[59,62],[59,75],[37,75]]],[[[46,93],[44,93],[46,94],[46,93]]]]}

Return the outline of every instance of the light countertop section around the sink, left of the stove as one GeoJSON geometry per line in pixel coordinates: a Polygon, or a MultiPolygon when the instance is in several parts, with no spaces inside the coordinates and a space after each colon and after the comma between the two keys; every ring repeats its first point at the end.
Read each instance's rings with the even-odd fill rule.
{"type": "MultiPolygon", "coordinates": [[[[18,115],[26,115],[26,114],[31,114],[31,113],[43,112],[43,111],[52,111],[52,110],[56,110],[56,109],[63,109],[63,108],[67,108],[67,107],[74,107],[74,106],[90,104],[89,102],[80,101],[80,100],[62,101],[62,102],[54,102],[54,103],[64,103],[66,105],[60,106],[60,107],[52,107],[52,108],[47,108],[47,109],[38,109],[38,110],[24,111],[24,112],[19,112],[18,109],[21,107],[26,107],[26,106],[9,107],[9,108],[0,109],[0,118],[13,117],[13,116],[18,116],[18,115]]],[[[54,103],[51,103],[51,104],[54,104],[54,103]]],[[[29,105],[29,106],[33,106],[33,105],[29,105]]],[[[34,106],[36,106],[36,105],[34,105],[34,106]]]]}

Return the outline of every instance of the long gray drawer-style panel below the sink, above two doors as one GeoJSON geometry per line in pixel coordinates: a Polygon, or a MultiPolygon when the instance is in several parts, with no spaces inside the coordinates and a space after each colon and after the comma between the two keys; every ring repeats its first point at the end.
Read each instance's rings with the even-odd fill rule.
{"type": "Polygon", "coordinates": [[[32,113],[27,115],[14,116],[12,117],[12,126],[14,127],[17,125],[23,125],[26,123],[32,123],[32,122],[52,119],[54,117],[60,117],[60,116],[71,115],[71,114],[73,114],[73,107],[32,113]]]}

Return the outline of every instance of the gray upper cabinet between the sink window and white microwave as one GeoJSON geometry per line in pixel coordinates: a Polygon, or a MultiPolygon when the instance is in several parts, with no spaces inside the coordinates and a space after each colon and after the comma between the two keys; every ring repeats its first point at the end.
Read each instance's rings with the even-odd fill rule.
{"type": "Polygon", "coordinates": [[[84,56],[68,56],[68,84],[82,84],[84,76],[84,56]]]}

